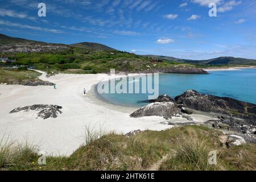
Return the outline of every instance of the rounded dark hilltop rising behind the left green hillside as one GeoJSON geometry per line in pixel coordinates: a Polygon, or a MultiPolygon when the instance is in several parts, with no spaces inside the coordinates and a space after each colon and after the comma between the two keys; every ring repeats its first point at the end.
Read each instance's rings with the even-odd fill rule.
{"type": "Polygon", "coordinates": [[[77,44],[71,44],[69,46],[85,48],[85,49],[88,49],[90,51],[117,51],[114,48],[105,46],[103,44],[90,43],[90,42],[82,42],[82,43],[77,43],[77,44]]]}

